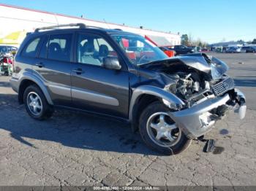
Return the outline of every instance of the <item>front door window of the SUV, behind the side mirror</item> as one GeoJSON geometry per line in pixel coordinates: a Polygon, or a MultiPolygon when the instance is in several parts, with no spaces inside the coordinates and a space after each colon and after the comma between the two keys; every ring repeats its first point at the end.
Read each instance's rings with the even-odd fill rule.
{"type": "Polygon", "coordinates": [[[101,36],[79,34],[78,63],[102,66],[106,57],[117,56],[117,53],[101,36]]]}

